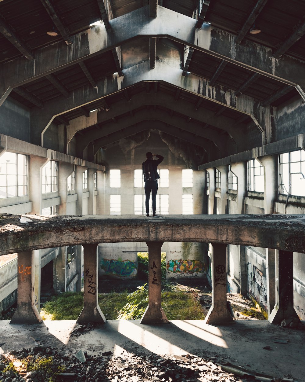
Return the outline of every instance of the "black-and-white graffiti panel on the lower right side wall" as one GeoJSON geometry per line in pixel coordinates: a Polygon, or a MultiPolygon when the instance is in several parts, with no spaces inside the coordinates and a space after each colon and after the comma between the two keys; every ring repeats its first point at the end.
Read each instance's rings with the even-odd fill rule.
{"type": "Polygon", "coordinates": [[[253,265],[252,270],[251,263],[248,263],[248,287],[249,294],[268,312],[266,277],[264,277],[263,272],[257,269],[255,265],[253,265]]]}

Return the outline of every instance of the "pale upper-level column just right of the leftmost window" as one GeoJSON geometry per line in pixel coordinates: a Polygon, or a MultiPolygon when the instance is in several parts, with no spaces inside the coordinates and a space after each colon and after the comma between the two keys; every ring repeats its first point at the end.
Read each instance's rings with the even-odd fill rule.
{"type": "Polygon", "coordinates": [[[29,160],[29,197],[32,202],[32,214],[41,214],[42,201],[42,167],[47,158],[30,156],[29,160]]]}

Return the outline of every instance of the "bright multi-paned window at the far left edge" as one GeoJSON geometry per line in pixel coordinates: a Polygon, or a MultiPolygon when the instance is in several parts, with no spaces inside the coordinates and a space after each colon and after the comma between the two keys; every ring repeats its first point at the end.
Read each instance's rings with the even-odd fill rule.
{"type": "Polygon", "coordinates": [[[0,198],[27,195],[27,156],[5,152],[0,157],[0,198]]]}

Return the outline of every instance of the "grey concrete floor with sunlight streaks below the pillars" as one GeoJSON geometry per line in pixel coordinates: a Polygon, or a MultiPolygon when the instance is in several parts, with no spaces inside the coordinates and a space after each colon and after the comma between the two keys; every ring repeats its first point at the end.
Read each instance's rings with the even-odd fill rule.
{"type": "Polygon", "coordinates": [[[75,320],[43,321],[37,325],[10,325],[0,321],[0,353],[41,345],[79,349],[96,355],[132,354],[217,356],[218,361],[269,374],[276,379],[305,381],[305,331],[281,328],[268,321],[236,320],[233,325],[212,326],[200,320],[173,320],[170,324],[141,325],[138,320],[108,320],[80,336],[72,333],[75,320]],[[32,337],[32,338],[31,338],[32,337]],[[34,339],[33,339],[34,338],[34,339]],[[276,343],[274,340],[288,340],[276,343]],[[271,350],[263,349],[269,345],[271,350]]]}

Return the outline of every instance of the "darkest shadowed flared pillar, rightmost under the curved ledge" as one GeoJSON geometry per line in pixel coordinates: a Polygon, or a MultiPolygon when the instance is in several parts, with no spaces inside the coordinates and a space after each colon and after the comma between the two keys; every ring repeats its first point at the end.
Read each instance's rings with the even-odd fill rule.
{"type": "Polygon", "coordinates": [[[275,306],[268,317],[271,324],[280,324],[284,319],[300,320],[293,304],[293,252],[278,251],[275,256],[276,294],[275,306]]]}

